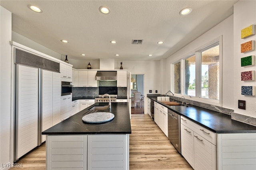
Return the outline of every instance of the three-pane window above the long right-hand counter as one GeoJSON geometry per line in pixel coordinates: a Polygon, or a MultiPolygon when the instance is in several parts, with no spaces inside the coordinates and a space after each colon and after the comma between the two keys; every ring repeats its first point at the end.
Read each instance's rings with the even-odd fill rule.
{"type": "Polygon", "coordinates": [[[220,104],[220,39],[173,66],[175,94],[220,104]]]}

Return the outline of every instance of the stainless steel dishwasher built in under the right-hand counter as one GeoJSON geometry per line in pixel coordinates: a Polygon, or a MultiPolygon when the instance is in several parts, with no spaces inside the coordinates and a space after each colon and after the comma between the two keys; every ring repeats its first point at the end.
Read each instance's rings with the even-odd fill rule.
{"type": "Polygon", "coordinates": [[[168,109],[168,139],[181,153],[180,146],[180,115],[168,109]]]}

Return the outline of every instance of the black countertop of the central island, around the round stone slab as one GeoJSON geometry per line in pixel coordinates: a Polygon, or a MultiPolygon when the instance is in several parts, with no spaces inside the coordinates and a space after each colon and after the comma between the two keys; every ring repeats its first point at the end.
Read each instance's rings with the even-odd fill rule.
{"type": "Polygon", "coordinates": [[[54,125],[42,132],[42,135],[68,135],[68,134],[131,134],[129,104],[126,102],[111,103],[112,107],[106,110],[94,110],[93,112],[111,112],[114,119],[105,123],[88,124],[82,121],[82,117],[92,113],[94,106],[106,106],[108,103],[96,103],[68,119],[54,125]]]}

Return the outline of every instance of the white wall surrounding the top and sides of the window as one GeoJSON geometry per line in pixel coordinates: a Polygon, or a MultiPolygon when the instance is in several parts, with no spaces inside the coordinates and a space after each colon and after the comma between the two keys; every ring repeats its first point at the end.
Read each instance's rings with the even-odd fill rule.
{"type": "Polygon", "coordinates": [[[171,55],[166,60],[166,88],[163,91],[167,92],[171,87],[170,65],[181,58],[186,57],[198,48],[207,45],[210,41],[223,36],[223,51],[222,51],[222,107],[234,108],[234,55],[233,55],[233,15],[222,21],[182,49],[171,55]]]}

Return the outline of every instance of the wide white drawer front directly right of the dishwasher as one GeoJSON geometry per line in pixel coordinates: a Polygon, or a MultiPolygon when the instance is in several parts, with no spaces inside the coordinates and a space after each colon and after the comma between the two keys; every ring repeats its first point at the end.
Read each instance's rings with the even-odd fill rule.
{"type": "Polygon", "coordinates": [[[190,129],[192,129],[198,135],[202,136],[204,139],[208,140],[213,145],[216,145],[216,133],[190,121],[189,119],[183,116],[180,117],[180,123],[189,127],[190,129]]]}

